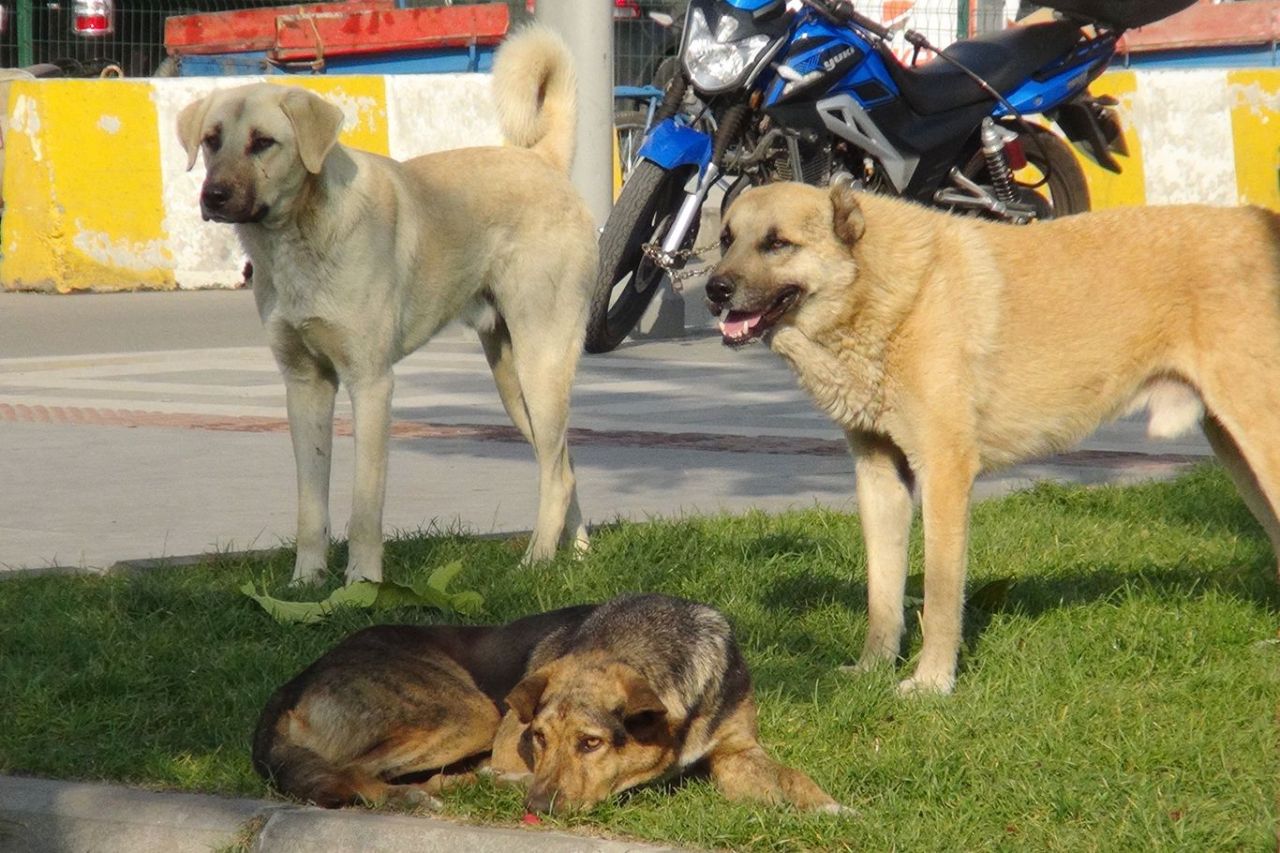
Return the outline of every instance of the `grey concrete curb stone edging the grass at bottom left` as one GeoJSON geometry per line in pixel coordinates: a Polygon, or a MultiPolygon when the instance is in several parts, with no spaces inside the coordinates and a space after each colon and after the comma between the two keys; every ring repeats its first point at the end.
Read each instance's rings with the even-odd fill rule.
{"type": "Polygon", "coordinates": [[[0,776],[0,850],[14,853],[671,853],[675,848],[434,817],[106,783],[0,776]]]}

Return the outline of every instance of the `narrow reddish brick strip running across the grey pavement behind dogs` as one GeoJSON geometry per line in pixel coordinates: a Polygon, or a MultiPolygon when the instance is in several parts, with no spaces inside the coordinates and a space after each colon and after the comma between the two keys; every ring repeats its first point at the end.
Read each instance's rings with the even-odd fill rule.
{"type": "MultiPolygon", "coordinates": [[[[0,403],[0,421],[36,424],[88,424],[97,426],[152,426],[169,429],[206,429],[233,433],[284,433],[289,423],[283,418],[241,415],[191,415],[138,411],[134,409],[87,409],[79,406],[23,406],[0,403]]],[[[351,435],[351,420],[334,421],[338,435],[351,435]]],[[[489,424],[426,424],[392,421],[393,438],[463,438],[481,442],[517,442],[524,437],[515,426],[489,424]]],[[[827,438],[787,438],[778,435],[714,435],[712,433],[660,433],[639,429],[570,429],[571,444],[605,447],[662,447],[719,453],[780,453],[794,456],[846,456],[845,442],[827,438]]],[[[1073,467],[1132,467],[1134,465],[1192,465],[1199,456],[1185,453],[1134,453],[1128,451],[1075,451],[1052,457],[1055,465],[1073,467]]]]}

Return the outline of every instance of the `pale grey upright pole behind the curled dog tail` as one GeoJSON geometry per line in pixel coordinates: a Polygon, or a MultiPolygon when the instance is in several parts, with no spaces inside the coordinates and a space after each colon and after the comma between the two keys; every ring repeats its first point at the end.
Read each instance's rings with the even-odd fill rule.
{"type": "Polygon", "coordinates": [[[538,19],[568,44],[577,67],[573,186],[603,225],[613,206],[613,4],[538,0],[538,19]]]}

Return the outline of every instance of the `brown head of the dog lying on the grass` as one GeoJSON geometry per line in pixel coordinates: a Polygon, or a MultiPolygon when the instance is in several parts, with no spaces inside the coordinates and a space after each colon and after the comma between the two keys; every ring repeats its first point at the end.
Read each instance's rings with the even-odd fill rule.
{"type": "Polygon", "coordinates": [[[658,779],[675,761],[667,707],[644,676],[616,661],[559,658],[517,684],[507,704],[526,726],[530,811],[590,808],[658,779]]]}

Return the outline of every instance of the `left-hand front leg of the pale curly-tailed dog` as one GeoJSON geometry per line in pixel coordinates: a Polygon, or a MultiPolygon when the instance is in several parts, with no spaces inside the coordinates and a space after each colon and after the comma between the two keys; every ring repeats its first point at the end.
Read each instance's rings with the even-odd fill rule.
{"type": "Polygon", "coordinates": [[[305,355],[276,353],[284,374],[289,438],[298,475],[297,558],[292,583],[312,583],[329,560],[329,469],[338,378],[305,355]],[[288,360],[285,360],[288,359],[288,360]]]}

